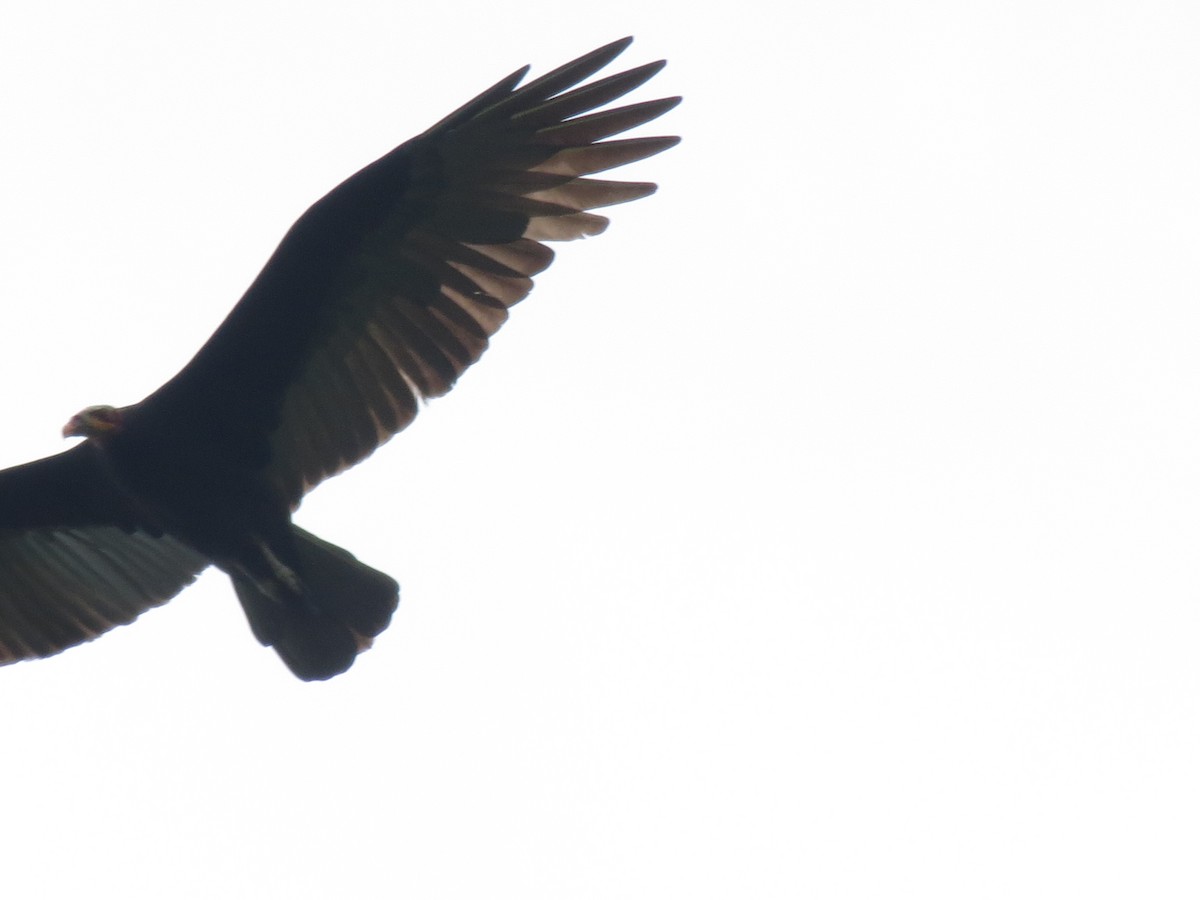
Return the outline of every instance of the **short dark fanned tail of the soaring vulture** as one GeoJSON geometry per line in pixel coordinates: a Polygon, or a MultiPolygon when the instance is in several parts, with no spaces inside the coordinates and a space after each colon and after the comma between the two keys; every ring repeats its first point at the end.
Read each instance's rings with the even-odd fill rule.
{"type": "Polygon", "coordinates": [[[236,574],[233,587],[254,637],[274,647],[298,678],[325,680],[354,665],[388,628],[400,586],[341,547],[295,526],[292,533],[294,574],[236,574]]]}

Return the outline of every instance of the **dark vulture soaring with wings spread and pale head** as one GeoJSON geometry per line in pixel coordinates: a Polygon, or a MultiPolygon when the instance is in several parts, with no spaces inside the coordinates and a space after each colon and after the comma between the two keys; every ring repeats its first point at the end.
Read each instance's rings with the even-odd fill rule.
{"type": "Polygon", "coordinates": [[[0,664],[127,624],[215,565],[296,677],[348,670],[400,588],[292,515],[454,386],[550,265],[546,241],[655,191],[589,178],[678,143],[608,139],[679,102],[601,109],[665,65],[588,80],[630,42],[524,85],[521,68],[343,181],[178,374],[0,472],[0,664]]]}

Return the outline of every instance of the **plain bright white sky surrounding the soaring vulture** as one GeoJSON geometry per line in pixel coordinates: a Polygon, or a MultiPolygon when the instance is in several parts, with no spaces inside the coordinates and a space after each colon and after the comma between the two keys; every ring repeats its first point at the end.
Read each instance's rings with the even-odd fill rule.
{"type": "Polygon", "coordinates": [[[1195,896],[1200,7],[323,6],[6,14],[0,464],[527,61],[685,140],[301,510],[402,584],[352,672],[218,574],[0,671],[5,893],[1195,896]]]}

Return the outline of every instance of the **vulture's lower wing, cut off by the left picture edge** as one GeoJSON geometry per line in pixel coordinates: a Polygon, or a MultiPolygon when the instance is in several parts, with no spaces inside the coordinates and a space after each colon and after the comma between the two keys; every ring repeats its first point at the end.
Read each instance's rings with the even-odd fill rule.
{"type": "Polygon", "coordinates": [[[0,472],[0,665],[133,622],[209,562],[139,529],[95,448],[0,472]]]}

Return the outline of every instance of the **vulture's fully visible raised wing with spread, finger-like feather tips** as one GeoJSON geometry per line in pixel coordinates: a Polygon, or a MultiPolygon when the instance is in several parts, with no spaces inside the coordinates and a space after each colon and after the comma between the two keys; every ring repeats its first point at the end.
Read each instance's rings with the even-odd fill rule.
{"type": "Polygon", "coordinates": [[[326,194],[138,419],[268,467],[293,504],[404,428],[529,293],[544,241],[599,234],[588,210],[654,192],[586,178],[678,143],[606,140],[677,97],[592,112],[664,62],[577,86],[630,41],[522,88],[515,72],[326,194]]]}

